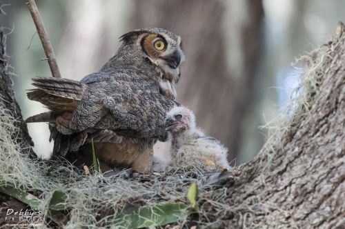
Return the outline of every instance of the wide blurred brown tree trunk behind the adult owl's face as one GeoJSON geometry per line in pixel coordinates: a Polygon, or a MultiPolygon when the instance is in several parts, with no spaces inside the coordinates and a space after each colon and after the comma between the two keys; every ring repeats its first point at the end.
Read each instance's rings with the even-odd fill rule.
{"type": "Polygon", "coordinates": [[[135,2],[133,29],[154,26],[181,36],[187,61],[181,68],[177,101],[195,112],[197,125],[207,135],[229,148],[230,161],[237,157],[246,114],[253,107],[263,14],[262,1],[135,2]],[[237,8],[237,18],[226,18],[226,8],[237,3],[243,6],[237,8]],[[238,43],[225,40],[235,38],[238,43]],[[226,50],[237,50],[236,57],[226,50]],[[227,57],[236,63],[229,64],[227,57]]]}

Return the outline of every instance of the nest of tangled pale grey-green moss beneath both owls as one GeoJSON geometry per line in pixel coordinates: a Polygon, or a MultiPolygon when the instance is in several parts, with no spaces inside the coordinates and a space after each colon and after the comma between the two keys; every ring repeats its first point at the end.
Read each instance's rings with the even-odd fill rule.
{"type": "Polygon", "coordinates": [[[133,215],[137,215],[135,219],[145,217],[138,212],[141,207],[148,210],[150,217],[135,226],[162,226],[168,222],[174,223],[171,226],[183,227],[195,215],[187,199],[193,181],[199,182],[198,216],[193,217],[194,223],[202,225],[201,221],[207,222],[210,215],[217,219],[224,208],[230,208],[219,202],[226,195],[227,187],[214,183],[229,177],[232,172],[205,171],[202,166],[189,166],[150,174],[124,170],[86,175],[68,164],[61,166],[61,162],[32,160],[23,155],[21,146],[12,138],[17,132],[13,128],[15,120],[7,110],[1,110],[0,115],[0,187],[33,194],[43,217],[42,228],[44,224],[65,224],[64,228],[131,228],[133,215]],[[56,204],[52,206],[55,196],[61,194],[59,208],[56,204]],[[166,207],[176,212],[169,212],[166,207]],[[52,211],[56,209],[59,214],[53,212],[54,216],[52,211]],[[166,211],[176,217],[161,219],[166,211]]]}

